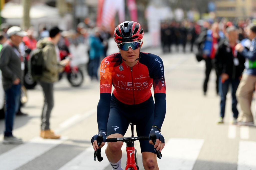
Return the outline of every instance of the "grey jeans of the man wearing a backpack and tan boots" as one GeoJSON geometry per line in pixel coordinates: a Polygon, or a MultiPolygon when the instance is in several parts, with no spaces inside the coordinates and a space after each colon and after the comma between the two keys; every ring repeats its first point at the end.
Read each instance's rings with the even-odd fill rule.
{"type": "Polygon", "coordinates": [[[41,130],[50,129],[50,116],[54,107],[53,83],[39,81],[44,93],[44,107],[41,115],[41,130]]]}

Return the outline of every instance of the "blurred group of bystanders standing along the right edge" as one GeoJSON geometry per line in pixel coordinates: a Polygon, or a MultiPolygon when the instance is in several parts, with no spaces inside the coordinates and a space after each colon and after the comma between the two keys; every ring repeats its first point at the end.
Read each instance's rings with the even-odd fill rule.
{"type": "MultiPolygon", "coordinates": [[[[232,123],[254,125],[251,102],[256,85],[255,23],[255,19],[234,22],[226,19],[219,22],[204,21],[199,34],[194,34],[195,41],[191,41],[191,44],[195,42],[197,45],[196,59],[205,61],[205,79],[202,88],[205,96],[210,72],[213,69],[216,71],[216,94],[220,96],[220,117],[217,123],[224,123],[226,96],[231,87],[232,123]],[[237,109],[238,102],[240,113],[237,109]]],[[[190,26],[188,30],[197,28],[196,24],[190,26]]],[[[192,32],[188,31],[190,37],[193,35],[192,32]]]]}

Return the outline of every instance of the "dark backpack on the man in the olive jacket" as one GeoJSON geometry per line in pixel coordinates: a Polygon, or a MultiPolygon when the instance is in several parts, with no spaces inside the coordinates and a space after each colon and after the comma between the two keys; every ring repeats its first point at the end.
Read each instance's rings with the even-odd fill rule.
{"type": "Polygon", "coordinates": [[[36,48],[29,54],[28,73],[34,81],[38,81],[44,71],[44,57],[42,55],[44,48],[36,48]]]}

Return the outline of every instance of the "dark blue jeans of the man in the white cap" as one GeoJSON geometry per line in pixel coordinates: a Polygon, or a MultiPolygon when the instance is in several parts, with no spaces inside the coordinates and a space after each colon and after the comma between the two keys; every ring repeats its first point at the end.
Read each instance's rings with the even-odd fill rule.
{"type": "Polygon", "coordinates": [[[21,84],[12,85],[5,90],[6,112],[5,112],[5,132],[4,136],[13,136],[13,123],[16,112],[19,108],[21,84]]]}

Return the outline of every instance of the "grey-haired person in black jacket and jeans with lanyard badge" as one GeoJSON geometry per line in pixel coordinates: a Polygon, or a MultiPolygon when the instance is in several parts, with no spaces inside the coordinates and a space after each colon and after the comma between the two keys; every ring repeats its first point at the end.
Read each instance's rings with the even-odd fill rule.
{"type": "Polygon", "coordinates": [[[223,123],[225,115],[226,95],[231,84],[233,124],[237,123],[237,87],[242,78],[244,70],[244,57],[235,50],[238,40],[237,29],[234,26],[227,28],[226,40],[219,44],[214,65],[219,76],[220,118],[217,123],[223,123]]]}

